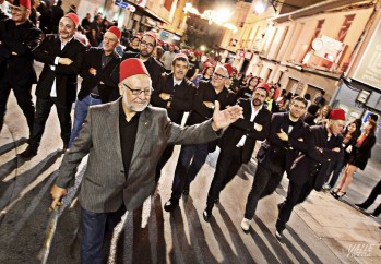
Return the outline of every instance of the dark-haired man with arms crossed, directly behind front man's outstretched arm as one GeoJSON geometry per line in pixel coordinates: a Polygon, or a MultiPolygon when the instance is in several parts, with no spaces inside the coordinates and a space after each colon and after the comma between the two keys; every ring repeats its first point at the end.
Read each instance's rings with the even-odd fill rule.
{"type": "MultiPolygon", "coordinates": [[[[152,94],[152,105],[167,109],[170,121],[181,124],[183,113],[190,111],[193,105],[195,86],[186,79],[189,69],[188,57],[177,53],[171,63],[172,72],[164,73],[158,85],[152,94]]],[[[158,160],[156,168],[156,181],[160,178],[160,171],[174,153],[174,145],[169,145],[158,160]]]]}

